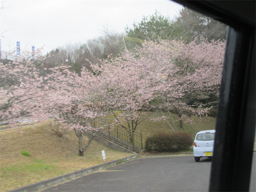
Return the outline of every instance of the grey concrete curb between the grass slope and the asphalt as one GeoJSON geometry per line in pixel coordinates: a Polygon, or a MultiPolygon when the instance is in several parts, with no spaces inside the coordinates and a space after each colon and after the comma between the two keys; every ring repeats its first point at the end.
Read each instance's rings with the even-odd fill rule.
{"type": "Polygon", "coordinates": [[[122,159],[106,162],[106,163],[103,163],[103,164],[100,164],[100,165],[96,165],[96,166],[89,167],[89,168],[86,168],[86,169],[71,172],[71,173],[68,173],[68,174],[65,174],[65,175],[62,175],[62,176],[54,177],[54,178],[51,178],[51,179],[48,179],[48,180],[45,180],[45,181],[40,181],[38,183],[34,183],[34,184],[31,184],[31,185],[28,185],[28,186],[24,186],[24,187],[21,187],[21,188],[10,190],[8,192],[33,192],[33,191],[36,191],[36,190],[39,190],[39,189],[42,189],[42,188],[45,188],[45,187],[48,187],[48,186],[51,186],[51,185],[54,185],[54,184],[58,184],[60,182],[63,182],[63,181],[69,180],[69,179],[73,179],[75,177],[82,176],[82,175],[87,174],[87,173],[91,173],[91,172],[94,172],[94,171],[97,171],[97,170],[115,165],[118,162],[125,162],[125,161],[128,161],[128,160],[134,159],[136,157],[137,157],[137,155],[132,155],[132,156],[128,156],[128,157],[125,157],[125,158],[122,158],[122,159]]]}

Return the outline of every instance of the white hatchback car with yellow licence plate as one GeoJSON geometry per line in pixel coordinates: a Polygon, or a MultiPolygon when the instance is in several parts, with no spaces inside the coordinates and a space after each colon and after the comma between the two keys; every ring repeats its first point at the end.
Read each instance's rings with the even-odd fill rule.
{"type": "Polygon", "coordinates": [[[215,130],[200,131],[194,140],[194,158],[196,162],[201,157],[212,157],[214,147],[215,130]]]}

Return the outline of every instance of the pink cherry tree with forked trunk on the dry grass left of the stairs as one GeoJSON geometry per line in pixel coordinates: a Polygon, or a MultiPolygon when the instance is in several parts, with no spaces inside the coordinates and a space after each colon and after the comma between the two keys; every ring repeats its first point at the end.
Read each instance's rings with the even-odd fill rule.
{"type": "Polygon", "coordinates": [[[93,138],[104,127],[109,112],[109,106],[101,100],[102,91],[97,88],[100,77],[88,70],[83,70],[81,76],[70,72],[68,67],[57,67],[44,78],[47,80],[48,98],[40,106],[39,114],[47,114],[56,122],[67,124],[74,130],[79,139],[79,155],[83,156],[93,138]],[[93,126],[98,117],[104,117],[100,127],[93,126]],[[85,146],[82,139],[88,132],[94,134],[85,146]]]}

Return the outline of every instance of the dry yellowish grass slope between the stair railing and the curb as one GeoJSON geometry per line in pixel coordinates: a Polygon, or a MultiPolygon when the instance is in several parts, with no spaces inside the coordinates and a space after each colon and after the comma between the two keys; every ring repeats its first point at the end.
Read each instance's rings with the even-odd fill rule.
{"type": "Polygon", "coordinates": [[[92,142],[78,156],[78,138],[74,131],[58,137],[45,124],[0,132],[0,191],[8,191],[42,180],[47,180],[131,154],[119,152],[92,142]],[[22,155],[30,154],[31,156],[22,155]]]}

